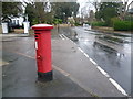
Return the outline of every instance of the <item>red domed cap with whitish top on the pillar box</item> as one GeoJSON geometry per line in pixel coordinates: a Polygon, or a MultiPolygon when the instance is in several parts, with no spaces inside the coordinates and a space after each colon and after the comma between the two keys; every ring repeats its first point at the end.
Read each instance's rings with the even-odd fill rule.
{"type": "Polygon", "coordinates": [[[31,26],[32,30],[51,30],[53,29],[52,25],[49,24],[35,24],[33,26],[31,26]]]}

